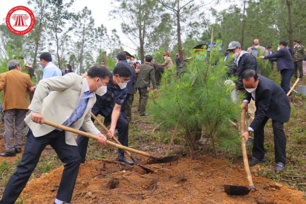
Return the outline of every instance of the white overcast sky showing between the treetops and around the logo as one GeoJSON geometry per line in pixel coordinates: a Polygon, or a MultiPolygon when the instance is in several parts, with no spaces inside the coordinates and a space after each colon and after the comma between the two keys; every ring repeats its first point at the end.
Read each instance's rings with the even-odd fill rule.
{"type": "MultiPolygon", "coordinates": [[[[31,9],[31,7],[27,4],[28,0],[10,0],[10,1],[3,1],[0,7],[0,23],[5,23],[5,18],[7,13],[15,6],[25,6],[31,9]]],[[[92,12],[92,16],[95,21],[95,27],[100,26],[103,24],[108,32],[109,35],[111,34],[111,30],[116,29],[117,34],[120,37],[121,42],[123,43],[124,50],[131,53],[132,55],[136,53],[135,46],[130,42],[130,40],[122,33],[120,20],[110,19],[109,12],[113,9],[111,7],[111,2],[113,0],[103,0],[103,1],[96,1],[96,0],[75,0],[72,6],[74,11],[81,11],[85,6],[88,7],[89,10],[92,12]]],[[[228,7],[226,0],[205,0],[205,2],[211,3],[212,5],[215,2],[219,2],[218,6],[215,7],[217,10],[222,10],[228,7]]],[[[238,1],[239,2],[239,1],[238,1]]],[[[209,16],[208,16],[209,17],[209,16]]]]}

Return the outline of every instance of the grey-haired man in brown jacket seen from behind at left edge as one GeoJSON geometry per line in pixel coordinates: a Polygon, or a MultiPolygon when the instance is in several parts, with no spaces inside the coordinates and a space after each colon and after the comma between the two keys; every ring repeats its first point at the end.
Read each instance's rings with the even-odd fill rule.
{"type": "Polygon", "coordinates": [[[4,142],[6,151],[2,157],[13,157],[21,152],[21,141],[25,115],[28,112],[29,100],[27,92],[32,98],[32,82],[29,74],[21,72],[20,62],[11,60],[8,63],[9,71],[0,74],[0,90],[4,90],[4,142]],[[15,118],[15,122],[14,122],[15,118]],[[13,142],[13,126],[15,126],[15,142],[13,142]]]}

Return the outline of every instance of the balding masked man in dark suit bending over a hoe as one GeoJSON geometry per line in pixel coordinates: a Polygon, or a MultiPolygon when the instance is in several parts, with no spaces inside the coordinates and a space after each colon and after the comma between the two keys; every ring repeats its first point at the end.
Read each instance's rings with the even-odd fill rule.
{"type": "Polygon", "coordinates": [[[243,100],[243,108],[252,98],[255,100],[256,113],[253,122],[247,131],[242,134],[245,140],[251,132],[254,132],[254,143],[252,149],[253,159],[250,166],[259,162],[267,161],[264,150],[264,127],[269,118],[272,119],[274,133],[275,171],[282,171],[286,165],[286,135],[284,133],[284,122],[290,118],[290,101],[284,90],[264,76],[257,74],[252,69],[242,73],[242,83],[247,91],[243,100]]]}

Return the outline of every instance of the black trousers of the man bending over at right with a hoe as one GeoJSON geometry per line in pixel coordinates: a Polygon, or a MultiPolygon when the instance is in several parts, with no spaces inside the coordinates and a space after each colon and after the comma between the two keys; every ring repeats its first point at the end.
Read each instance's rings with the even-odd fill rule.
{"type": "MultiPolygon", "coordinates": [[[[264,149],[264,127],[268,121],[265,117],[257,130],[254,130],[254,143],[252,154],[254,158],[262,159],[265,157],[264,149]]],[[[273,134],[274,134],[274,153],[275,163],[282,162],[286,164],[286,135],[284,133],[284,123],[272,120],[273,134]]]]}

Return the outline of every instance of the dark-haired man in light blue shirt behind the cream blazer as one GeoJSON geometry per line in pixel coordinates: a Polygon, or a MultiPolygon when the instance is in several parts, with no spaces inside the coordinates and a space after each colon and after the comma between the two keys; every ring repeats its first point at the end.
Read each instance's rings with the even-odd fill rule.
{"type": "Polygon", "coordinates": [[[42,53],[39,56],[40,64],[43,69],[42,79],[50,77],[59,77],[62,75],[61,70],[52,62],[52,56],[50,53],[42,53]]]}

